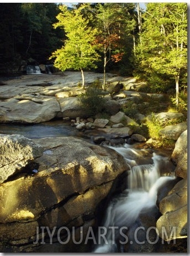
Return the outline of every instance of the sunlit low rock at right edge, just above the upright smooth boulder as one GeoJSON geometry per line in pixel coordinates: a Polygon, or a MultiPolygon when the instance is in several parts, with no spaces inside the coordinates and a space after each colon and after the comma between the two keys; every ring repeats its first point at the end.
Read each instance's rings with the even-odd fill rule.
{"type": "Polygon", "coordinates": [[[172,126],[166,126],[159,131],[162,138],[177,140],[184,130],[187,130],[187,123],[173,124],[172,126]]]}

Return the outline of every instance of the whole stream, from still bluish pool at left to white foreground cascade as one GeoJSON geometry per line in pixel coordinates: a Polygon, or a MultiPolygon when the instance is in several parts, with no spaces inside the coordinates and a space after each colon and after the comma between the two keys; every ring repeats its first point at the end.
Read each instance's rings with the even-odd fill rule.
{"type": "MultiPolygon", "coordinates": [[[[93,131],[94,132],[94,131],[93,131]]],[[[91,131],[90,134],[92,135],[91,131]]],[[[90,134],[78,132],[69,123],[52,121],[40,124],[0,124],[0,133],[21,134],[27,138],[65,137],[74,136],[85,138],[89,141],[90,134]]],[[[94,134],[95,135],[95,134],[94,134]]],[[[121,238],[122,227],[130,229],[139,215],[150,212],[150,208],[156,207],[158,189],[175,179],[174,167],[170,159],[163,153],[152,149],[139,149],[135,145],[124,144],[122,146],[107,146],[126,160],[129,165],[129,175],[124,182],[126,189],[116,195],[109,203],[101,227],[105,236],[95,245],[95,253],[121,252],[118,241],[121,238]]],[[[100,225],[99,225],[100,226],[100,225]]],[[[124,234],[125,230],[122,231],[124,234]]]]}

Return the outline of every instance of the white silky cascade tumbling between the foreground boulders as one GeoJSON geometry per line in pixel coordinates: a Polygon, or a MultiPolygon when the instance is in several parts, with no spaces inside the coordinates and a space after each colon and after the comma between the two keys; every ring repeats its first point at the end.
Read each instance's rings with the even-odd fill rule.
{"type": "Polygon", "coordinates": [[[122,227],[129,229],[142,210],[155,206],[158,188],[175,178],[171,162],[167,157],[153,152],[151,158],[148,158],[150,153],[147,154],[145,149],[134,149],[127,144],[123,147],[110,146],[110,148],[123,155],[130,166],[130,171],[126,180],[127,189],[112,199],[106,210],[105,221],[102,224],[105,236],[96,245],[95,253],[118,252],[117,245],[121,238],[122,227]],[[145,158],[147,164],[137,163],[145,158]],[[165,174],[162,174],[163,168],[165,168],[165,174]]]}

